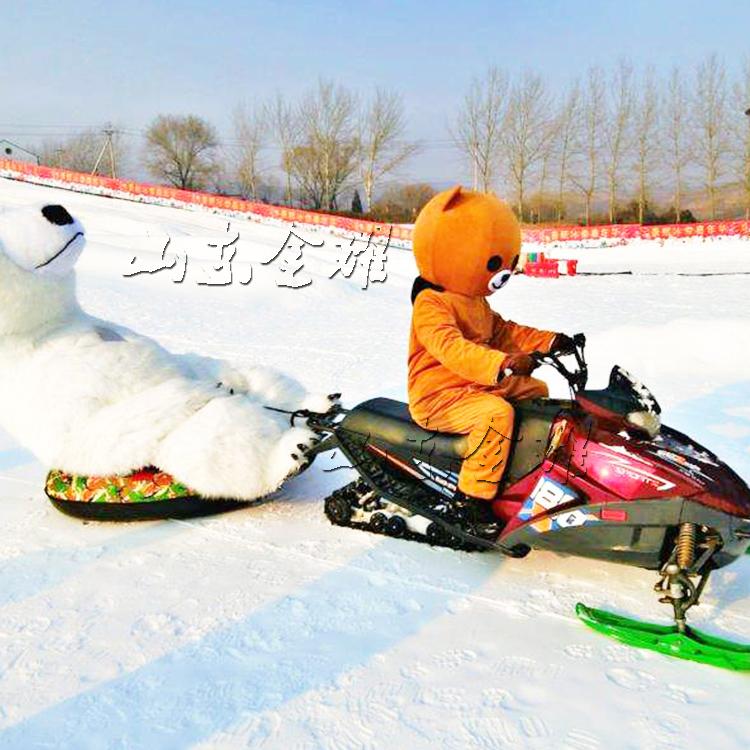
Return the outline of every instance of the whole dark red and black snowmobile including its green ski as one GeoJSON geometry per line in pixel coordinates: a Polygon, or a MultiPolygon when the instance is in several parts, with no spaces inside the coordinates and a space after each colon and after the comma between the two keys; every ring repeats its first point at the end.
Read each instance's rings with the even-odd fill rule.
{"type": "Polygon", "coordinates": [[[406,404],[374,398],[326,415],[297,412],[321,436],[310,455],[337,451],[359,477],[325,500],[338,526],[511,557],[551,550],[658,572],[674,625],[577,606],[592,628],[631,645],[732,669],[750,669],[750,646],[688,626],[712,571],[750,546],[750,489],[707,448],[661,424],[652,393],[619,366],[587,389],[585,337],[573,351],[534,355],[567,381],[569,399],[515,404],[509,465],[486,538],[456,503],[466,437],[412,421],[406,404]],[[574,359],[571,362],[570,357],[574,359]],[[567,363],[567,364],[566,364],[567,363]]]}

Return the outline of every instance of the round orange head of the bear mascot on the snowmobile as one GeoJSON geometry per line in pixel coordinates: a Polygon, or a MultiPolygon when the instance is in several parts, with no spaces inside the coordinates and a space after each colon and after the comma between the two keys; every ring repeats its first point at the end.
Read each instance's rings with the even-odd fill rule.
{"type": "Polygon", "coordinates": [[[422,288],[483,297],[502,288],[513,273],[521,228],[499,198],[456,186],[422,209],[413,247],[422,288]]]}

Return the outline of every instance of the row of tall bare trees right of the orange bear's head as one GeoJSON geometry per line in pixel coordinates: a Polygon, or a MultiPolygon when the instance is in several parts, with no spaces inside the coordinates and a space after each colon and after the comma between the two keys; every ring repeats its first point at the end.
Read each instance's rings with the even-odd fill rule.
{"type": "Polygon", "coordinates": [[[451,132],[474,186],[511,195],[526,221],[750,218],[749,107],[750,60],[734,81],[716,55],[664,76],[620,60],[557,92],[493,67],[451,132]]]}

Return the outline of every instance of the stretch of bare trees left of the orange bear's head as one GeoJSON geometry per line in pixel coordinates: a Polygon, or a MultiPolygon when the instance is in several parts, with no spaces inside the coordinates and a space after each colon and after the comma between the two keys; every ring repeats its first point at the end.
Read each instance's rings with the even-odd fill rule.
{"type": "MultiPolygon", "coordinates": [[[[142,162],[153,178],[175,187],[313,209],[351,207],[356,190],[355,210],[371,212],[384,178],[419,149],[405,139],[405,130],[398,94],[378,89],[360,99],[320,81],[297,102],[278,94],[253,107],[239,106],[227,142],[201,117],[160,115],[145,132],[142,162]],[[345,195],[348,206],[342,203],[345,195]]],[[[41,157],[46,164],[92,171],[100,148],[101,135],[91,131],[45,144],[41,157]]],[[[124,159],[121,140],[115,148],[124,159]]],[[[107,166],[97,171],[106,174],[107,166]]]]}

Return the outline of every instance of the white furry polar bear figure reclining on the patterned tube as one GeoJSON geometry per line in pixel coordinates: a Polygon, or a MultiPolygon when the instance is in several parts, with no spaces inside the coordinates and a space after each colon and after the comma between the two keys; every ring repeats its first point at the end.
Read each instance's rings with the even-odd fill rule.
{"type": "Polygon", "coordinates": [[[156,466],[207,498],[254,499],[300,471],[315,434],[265,407],[326,412],[335,396],[87,315],[73,269],[84,243],[62,206],[0,214],[0,426],[48,468],[156,466]]]}

